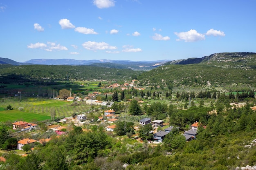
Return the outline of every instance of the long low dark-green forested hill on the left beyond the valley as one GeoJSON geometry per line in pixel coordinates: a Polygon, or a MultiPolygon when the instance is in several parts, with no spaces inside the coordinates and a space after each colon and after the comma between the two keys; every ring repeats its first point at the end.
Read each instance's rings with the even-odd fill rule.
{"type": "MultiPolygon", "coordinates": [[[[11,66],[0,65],[0,82],[31,80],[55,81],[55,80],[113,80],[132,79],[142,71],[131,69],[101,68],[96,66],[65,66],[65,65],[24,65],[11,66]]],[[[19,82],[19,81],[18,81],[19,82]]]]}

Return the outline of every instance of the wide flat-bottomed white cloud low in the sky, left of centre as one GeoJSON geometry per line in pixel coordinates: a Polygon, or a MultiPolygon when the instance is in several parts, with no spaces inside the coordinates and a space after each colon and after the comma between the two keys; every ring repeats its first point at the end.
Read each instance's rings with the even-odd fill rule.
{"type": "Polygon", "coordinates": [[[94,51],[96,51],[96,50],[115,50],[115,49],[117,49],[116,46],[110,46],[106,42],[88,41],[88,42],[84,42],[82,44],[82,46],[85,49],[94,50],[94,51]]]}

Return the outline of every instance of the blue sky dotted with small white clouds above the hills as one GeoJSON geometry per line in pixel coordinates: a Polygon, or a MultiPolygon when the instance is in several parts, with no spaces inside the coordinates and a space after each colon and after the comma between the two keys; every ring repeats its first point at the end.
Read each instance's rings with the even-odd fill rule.
{"type": "Polygon", "coordinates": [[[0,0],[0,57],[177,60],[256,52],[256,0],[0,0]]]}

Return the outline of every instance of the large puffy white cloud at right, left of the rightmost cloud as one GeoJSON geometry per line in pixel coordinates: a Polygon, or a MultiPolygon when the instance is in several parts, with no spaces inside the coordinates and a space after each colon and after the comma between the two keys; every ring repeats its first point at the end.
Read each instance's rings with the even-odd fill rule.
{"type": "Polygon", "coordinates": [[[175,32],[175,35],[177,35],[177,37],[179,38],[176,41],[184,40],[185,42],[195,42],[195,41],[205,40],[204,34],[198,33],[194,29],[191,29],[190,31],[187,31],[187,32],[180,32],[180,33],[175,32]]]}

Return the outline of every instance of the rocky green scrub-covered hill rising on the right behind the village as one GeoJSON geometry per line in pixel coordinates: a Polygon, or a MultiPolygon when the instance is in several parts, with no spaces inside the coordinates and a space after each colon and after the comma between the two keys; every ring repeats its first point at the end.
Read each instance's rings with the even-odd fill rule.
{"type": "Polygon", "coordinates": [[[139,80],[141,85],[255,86],[256,53],[216,53],[201,59],[175,60],[142,74],[139,80]]]}

